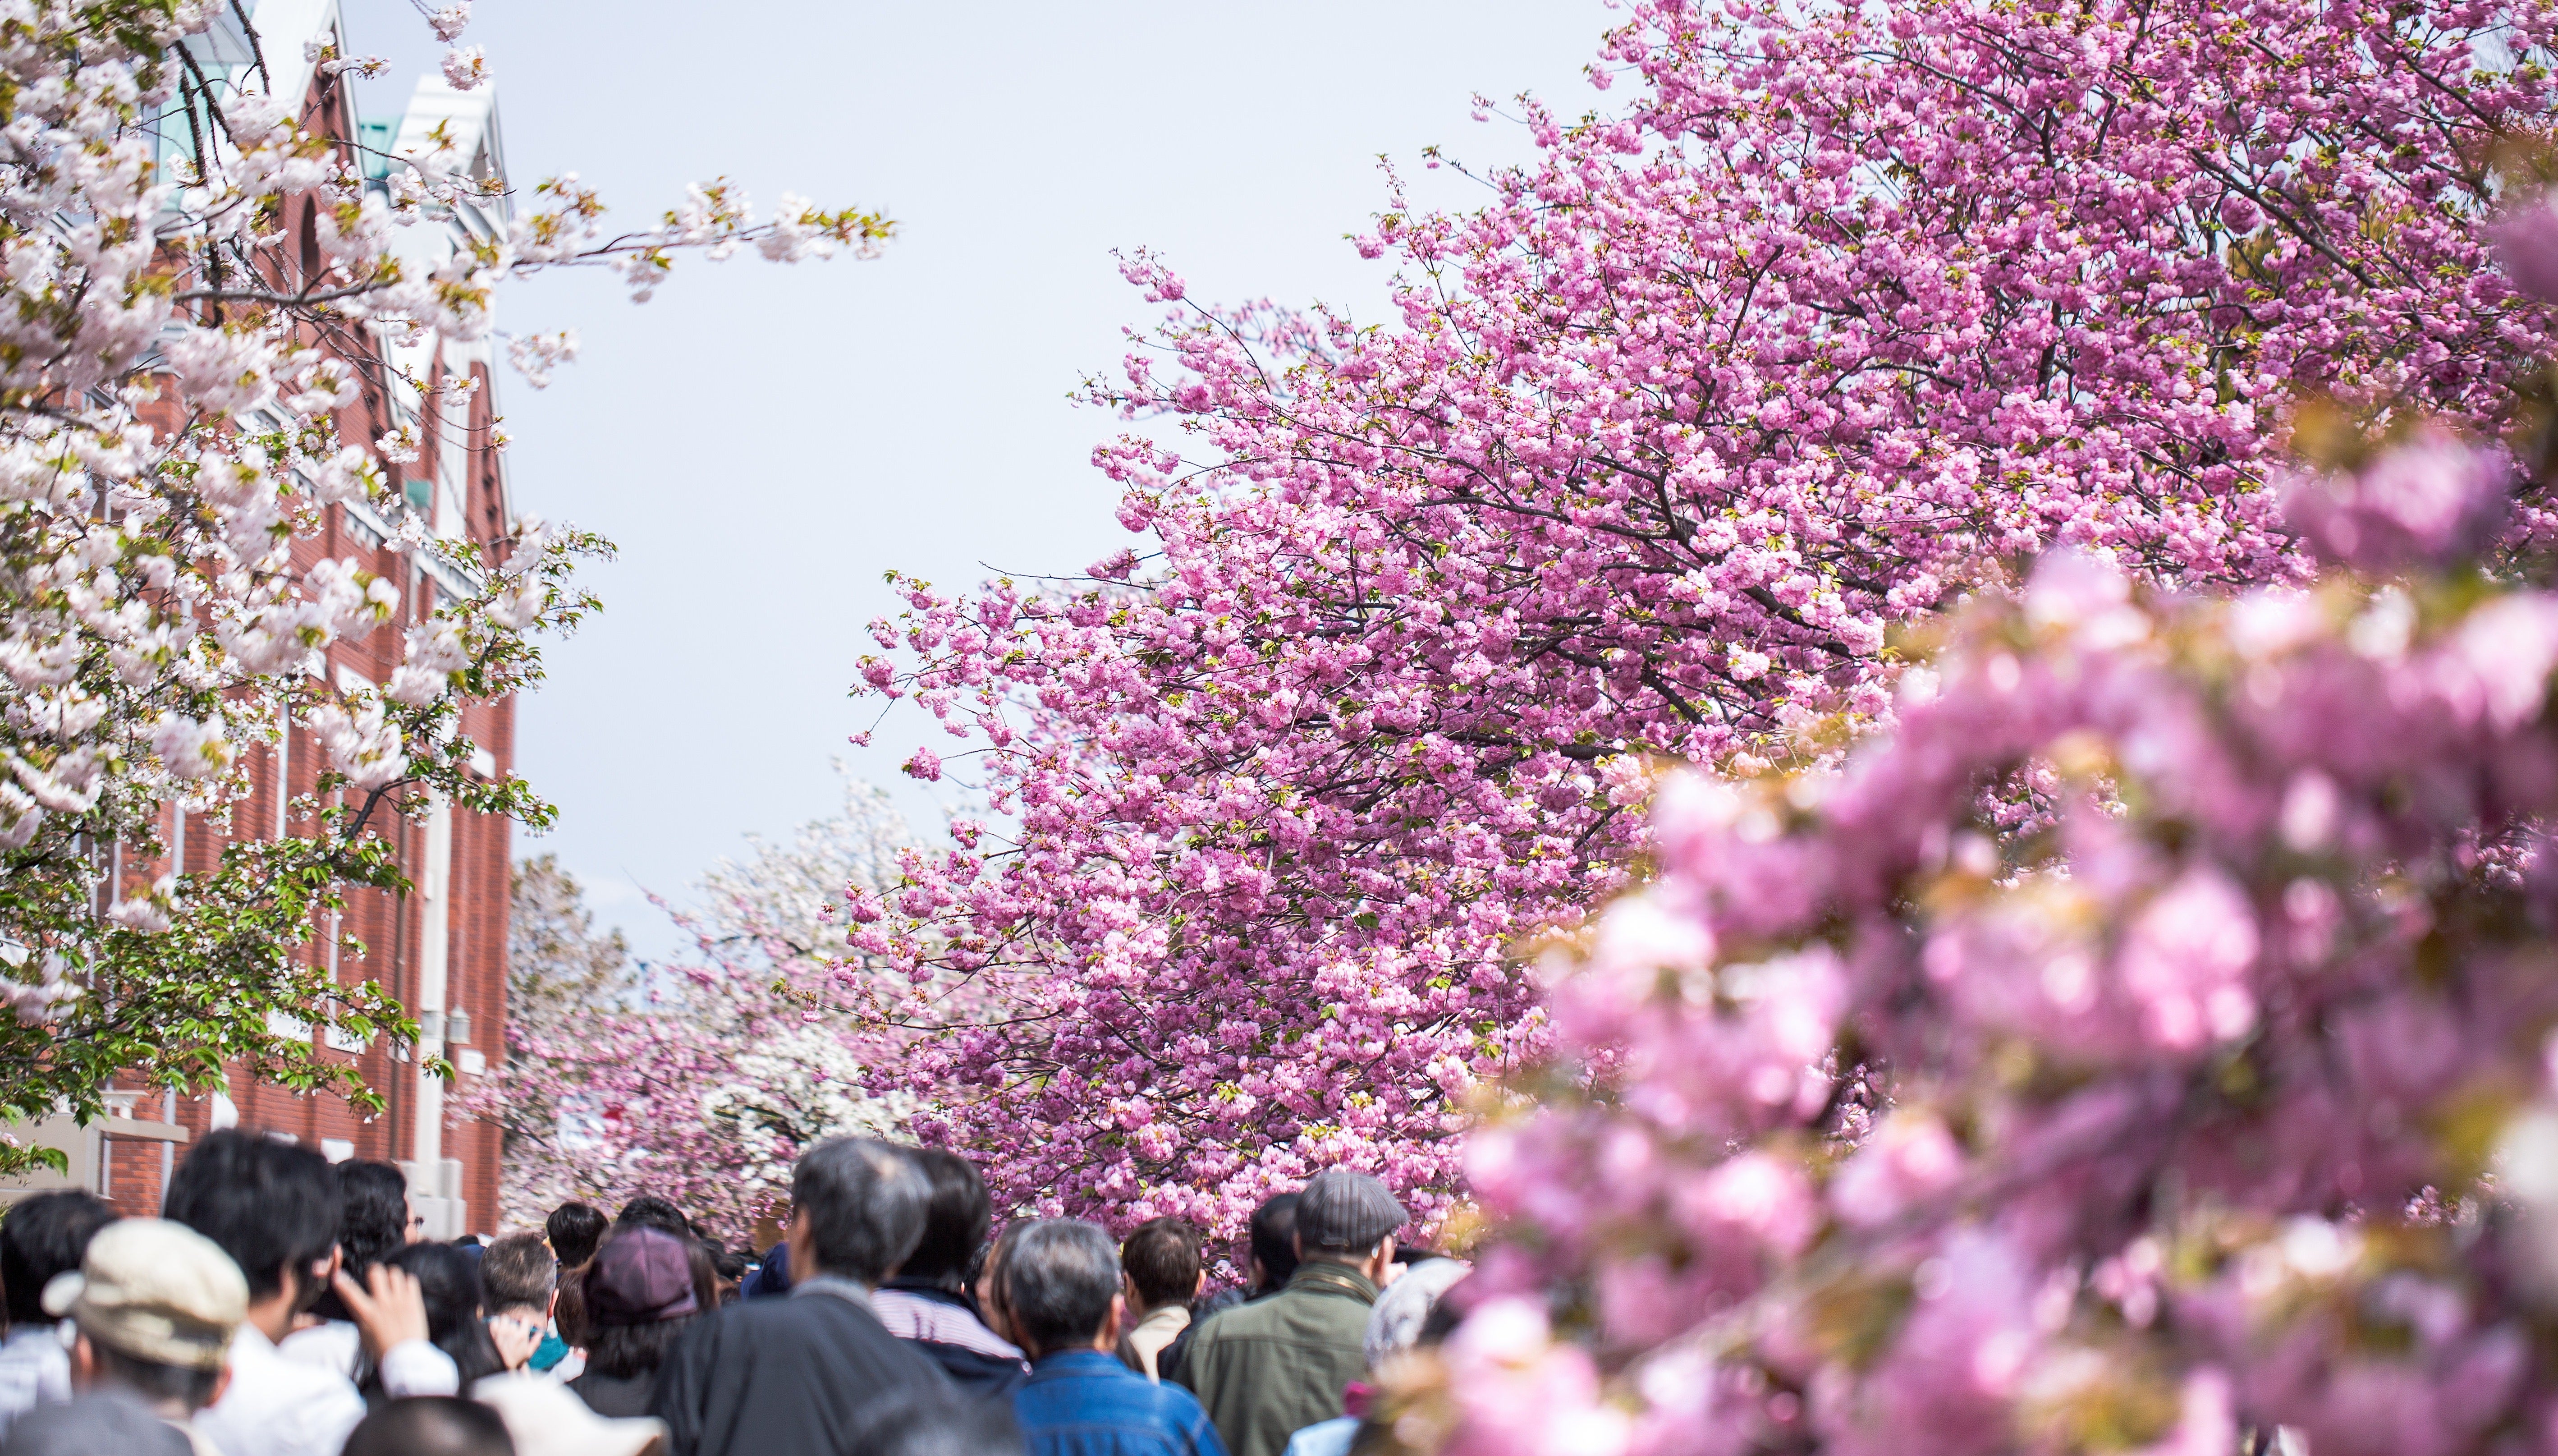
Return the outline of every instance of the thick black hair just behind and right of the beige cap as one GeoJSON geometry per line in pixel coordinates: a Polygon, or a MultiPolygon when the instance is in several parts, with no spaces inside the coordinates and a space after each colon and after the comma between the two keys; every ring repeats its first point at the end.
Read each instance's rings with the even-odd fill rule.
{"type": "Polygon", "coordinates": [[[315,1264],[338,1246],[338,1177],[325,1157],[263,1134],[223,1128],[197,1139],[169,1180],[161,1215],[223,1246],[248,1277],[251,1302],[297,1269],[302,1302],[320,1297],[315,1264]]]}

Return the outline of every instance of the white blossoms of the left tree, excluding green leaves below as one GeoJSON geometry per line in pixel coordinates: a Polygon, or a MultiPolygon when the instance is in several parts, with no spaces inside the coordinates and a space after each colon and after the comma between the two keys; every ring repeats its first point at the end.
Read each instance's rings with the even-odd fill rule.
{"type": "MultiPolygon", "coordinates": [[[[223,873],[130,893],[105,862],[153,842],[171,806],[223,816],[279,734],[317,745],[361,814],[407,814],[427,798],[409,788],[524,803],[471,778],[463,701],[540,676],[527,635],[591,606],[568,563],[601,542],[448,537],[386,468],[460,448],[445,407],[486,379],[430,371],[494,333],[504,279],[591,264],[647,297],[675,251],[788,261],[888,233],[798,200],[757,225],[714,182],[663,228],[606,235],[573,174],[519,197],[450,123],[391,159],[312,136],[304,95],[279,87],[381,61],[335,33],[243,49],[251,10],[271,8],[0,0],[0,855],[26,888],[0,906],[0,944],[74,965],[100,937],[215,916],[223,873]],[[384,417],[368,381],[394,409],[430,407],[384,417]],[[345,440],[363,417],[379,438],[345,440]],[[340,509],[366,555],[322,548],[340,509]],[[396,576],[376,550],[435,573],[432,612],[376,576],[396,576]],[[325,670],[384,624],[404,637],[386,683],[325,670]]],[[[427,13],[455,90],[489,79],[468,20],[471,0],[427,13]]],[[[535,384],[576,351],[565,333],[509,340],[535,384]]],[[[0,1001],[56,1006],[46,965],[0,965],[0,1001]]]]}

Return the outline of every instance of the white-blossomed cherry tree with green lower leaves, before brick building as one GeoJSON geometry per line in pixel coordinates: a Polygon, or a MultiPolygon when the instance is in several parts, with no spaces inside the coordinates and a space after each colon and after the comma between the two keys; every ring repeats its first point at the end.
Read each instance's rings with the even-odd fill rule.
{"type": "MultiPolygon", "coordinates": [[[[453,44],[466,18],[458,3],[432,28],[453,44]]],[[[512,276],[609,266],[647,297],[686,251],[793,261],[890,230],[793,197],[755,220],[706,184],[614,233],[576,177],[517,192],[450,148],[363,159],[294,120],[294,87],[379,61],[292,38],[292,67],[263,41],[212,0],[28,0],[0,26],[5,1118],[95,1116],[110,1075],[192,1090],[225,1064],[368,1100],[307,1031],[276,1031],[417,1034],[376,983],[307,952],[315,926],[348,885],[404,885],[386,839],[404,814],[550,816],[524,783],[468,770],[463,709],[540,681],[535,635],[593,606],[570,568],[601,542],[540,522],[486,550],[432,535],[386,496],[386,463],[422,435],[343,432],[361,379],[468,389],[404,358],[483,338],[512,276]],[[445,246],[404,246],[412,228],[445,246]],[[471,586],[402,619],[381,688],[307,670],[402,609],[391,581],[317,548],[348,502],[402,517],[399,548],[471,586]],[[125,873],[166,855],[171,806],[220,821],[248,750],[286,727],[327,755],[292,832],[228,844],[217,870],[125,873]]],[[[481,84],[486,56],[455,44],[445,77],[481,84]]],[[[570,348],[514,343],[535,374],[570,348]]],[[[0,1146],[0,1169],[36,1157],[0,1146]]]]}

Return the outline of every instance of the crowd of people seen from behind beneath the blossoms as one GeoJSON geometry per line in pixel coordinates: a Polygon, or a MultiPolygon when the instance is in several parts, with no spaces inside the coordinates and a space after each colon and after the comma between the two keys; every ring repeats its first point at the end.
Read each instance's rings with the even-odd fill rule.
{"type": "Polygon", "coordinates": [[[0,1218],[0,1456],[1351,1456],[1466,1264],[1325,1169],[1210,1292],[1195,1228],[1016,1218],[946,1149],[831,1139],[762,1256],[663,1198],[427,1241],[391,1164],[217,1131],[159,1218],[0,1218]]]}

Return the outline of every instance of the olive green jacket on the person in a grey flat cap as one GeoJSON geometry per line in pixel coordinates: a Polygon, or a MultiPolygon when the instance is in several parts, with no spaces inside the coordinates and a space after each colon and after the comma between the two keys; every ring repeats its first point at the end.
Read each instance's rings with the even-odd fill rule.
{"type": "Polygon", "coordinates": [[[1282,1456],[1299,1428],[1340,1415],[1340,1392],[1366,1374],[1374,1302],[1376,1285],[1358,1269],[1297,1264],[1276,1295],[1200,1325],[1177,1379],[1230,1456],[1282,1456]]]}

